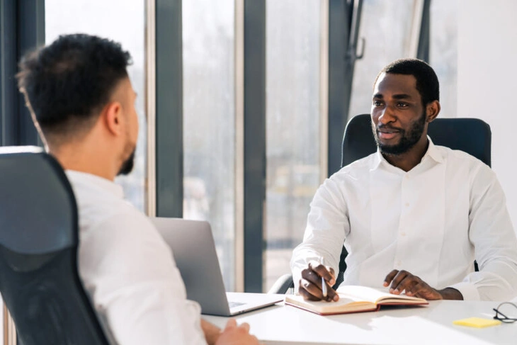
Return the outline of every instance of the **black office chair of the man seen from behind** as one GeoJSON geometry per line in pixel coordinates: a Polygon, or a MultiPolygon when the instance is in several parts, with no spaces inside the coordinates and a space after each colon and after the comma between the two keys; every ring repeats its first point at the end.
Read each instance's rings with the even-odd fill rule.
{"type": "Polygon", "coordinates": [[[0,148],[0,293],[23,345],[108,344],[77,273],[74,193],[38,147],[0,148]]]}

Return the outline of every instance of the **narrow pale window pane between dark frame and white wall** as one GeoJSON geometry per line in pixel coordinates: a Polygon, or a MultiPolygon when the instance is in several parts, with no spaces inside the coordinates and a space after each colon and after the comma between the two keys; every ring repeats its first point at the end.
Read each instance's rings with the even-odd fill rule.
{"type": "Polygon", "coordinates": [[[458,0],[431,1],[429,60],[440,81],[441,118],[455,118],[458,77],[458,0]]]}

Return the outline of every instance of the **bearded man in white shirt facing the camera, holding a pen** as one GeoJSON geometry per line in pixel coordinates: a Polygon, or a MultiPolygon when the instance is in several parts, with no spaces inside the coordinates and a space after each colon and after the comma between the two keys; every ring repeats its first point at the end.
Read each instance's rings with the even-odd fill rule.
{"type": "Polygon", "coordinates": [[[504,193],[489,166],[433,145],[427,128],[439,112],[438,78],[425,62],[397,60],[377,75],[377,152],[319,187],[293,251],[293,280],[305,299],[339,299],[330,287],[343,242],[345,285],[428,300],[517,295],[517,240],[504,193]]]}

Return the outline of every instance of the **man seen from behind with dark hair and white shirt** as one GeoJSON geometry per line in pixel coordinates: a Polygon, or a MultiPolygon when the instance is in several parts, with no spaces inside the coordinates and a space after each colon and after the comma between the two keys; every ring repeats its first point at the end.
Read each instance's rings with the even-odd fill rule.
{"type": "Polygon", "coordinates": [[[79,209],[79,276],[113,344],[258,344],[234,319],[200,319],[152,222],[113,182],[132,170],[138,136],[130,54],[64,35],[25,55],[18,85],[45,147],[66,169],[79,209]]]}

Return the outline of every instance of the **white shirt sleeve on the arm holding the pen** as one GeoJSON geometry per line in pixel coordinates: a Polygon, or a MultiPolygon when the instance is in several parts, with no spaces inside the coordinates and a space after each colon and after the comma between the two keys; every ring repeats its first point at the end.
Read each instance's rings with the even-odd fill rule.
{"type": "Polygon", "coordinates": [[[324,258],[337,276],[341,249],[349,229],[346,202],[339,186],[332,177],[326,179],[310,204],[303,242],[292,251],[290,266],[295,290],[309,261],[324,258]]]}

